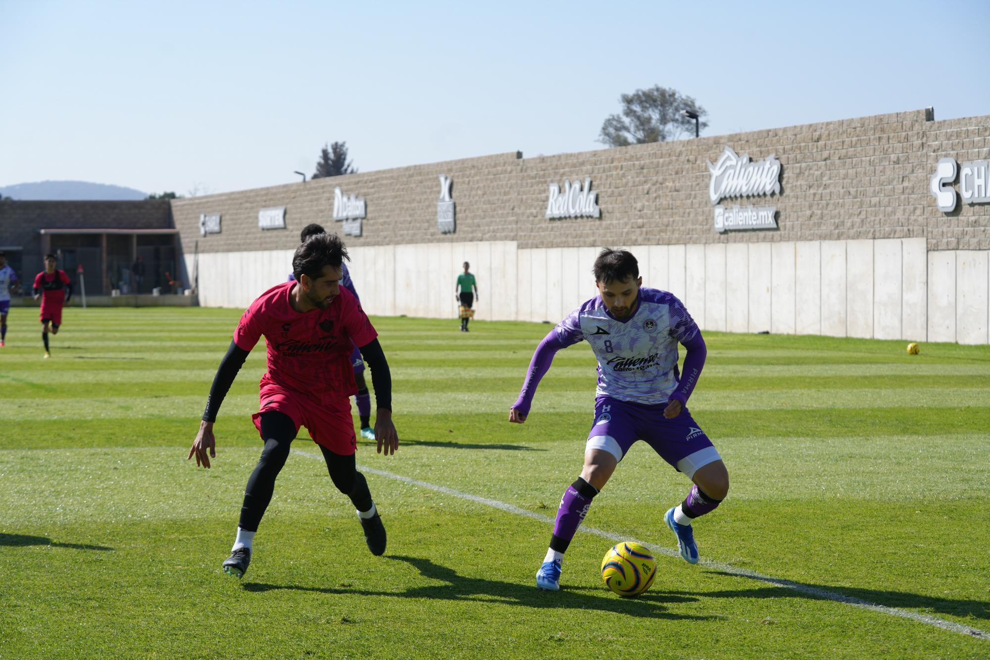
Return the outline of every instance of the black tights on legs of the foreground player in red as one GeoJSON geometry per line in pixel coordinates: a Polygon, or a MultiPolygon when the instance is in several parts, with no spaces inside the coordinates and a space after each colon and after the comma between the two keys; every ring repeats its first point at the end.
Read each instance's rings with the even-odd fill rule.
{"type": "MultiPolygon", "coordinates": [[[[261,516],[268,508],[271,494],[275,490],[275,478],[289,457],[292,440],[296,437],[296,425],[292,418],[283,412],[261,413],[261,437],[265,438],[261,458],[258,459],[254,472],[247,478],[245,501],[241,507],[241,522],[239,526],[247,531],[257,531],[261,516]]],[[[350,497],[354,507],[360,511],[371,508],[371,494],[368,491],[364,475],[354,467],[354,455],[342,456],[335,454],[326,447],[320,446],[323,458],[327,462],[327,470],[337,489],[350,497]]]]}

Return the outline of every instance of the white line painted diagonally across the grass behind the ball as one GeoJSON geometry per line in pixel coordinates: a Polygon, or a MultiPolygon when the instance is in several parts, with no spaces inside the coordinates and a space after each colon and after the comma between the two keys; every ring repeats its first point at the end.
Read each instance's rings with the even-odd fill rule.
{"type": "MultiPolygon", "coordinates": [[[[322,459],[322,456],[318,454],[310,454],[309,452],[300,451],[298,449],[293,449],[296,454],[301,454],[302,456],[308,456],[310,458],[322,459]]],[[[388,479],[394,479],[399,482],[404,482],[406,484],[411,484],[413,486],[419,486],[420,488],[430,489],[431,491],[437,491],[445,495],[452,495],[454,497],[460,497],[461,499],[468,499],[470,501],[477,502],[479,504],[486,504],[488,506],[493,506],[495,508],[507,511],[509,513],[515,513],[516,515],[524,515],[528,518],[533,518],[534,520],[540,520],[541,522],[553,524],[554,519],[543,513],[536,513],[534,511],[528,511],[525,508],[520,508],[513,504],[508,504],[504,501],[499,501],[498,499],[489,499],[488,497],[481,497],[479,495],[471,495],[470,493],[463,493],[461,491],[454,491],[453,489],[448,489],[446,486],[438,486],[437,484],[430,484],[428,482],[421,482],[418,479],[411,479],[409,477],[403,477],[402,475],[396,475],[391,472],[385,472],[384,470],[376,470],[375,468],[368,468],[366,466],[359,465],[357,469],[362,473],[370,473],[372,475],[378,475],[379,477],[387,477],[388,479]]],[[[596,529],[595,527],[589,527],[588,525],[582,524],[577,528],[578,531],[585,532],[587,534],[594,534],[596,536],[601,536],[610,541],[636,541],[637,543],[642,543],[646,547],[652,549],[654,552],[659,552],[669,557],[680,558],[680,553],[671,550],[669,548],[660,547],[655,543],[645,543],[635,538],[630,538],[628,536],[616,536],[611,532],[604,531],[602,529],[596,529]]],[[[722,571],[724,573],[730,573],[732,575],[739,576],[741,578],[749,578],[751,580],[759,580],[760,582],[765,582],[776,587],[783,587],[785,589],[793,589],[796,592],[805,594],[806,596],[813,596],[819,599],[825,599],[827,601],[835,601],[836,603],[841,603],[844,605],[852,605],[854,607],[860,607],[862,609],[870,609],[872,611],[878,611],[883,614],[890,614],[892,616],[900,616],[902,618],[910,618],[912,620],[918,621],[920,623],[927,623],[929,625],[934,625],[938,628],[944,630],[951,630],[952,632],[959,632],[964,635],[969,635],[970,637],[976,637],[977,639],[990,640],[990,632],[985,630],[980,630],[978,628],[973,628],[968,625],[962,625],[961,623],[956,623],[954,621],[946,621],[938,616],[932,616],[931,614],[921,614],[915,611],[909,611],[907,609],[899,609],[897,607],[888,607],[887,605],[876,605],[873,603],[868,603],[866,601],[861,601],[857,598],[851,596],[845,596],[843,594],[837,594],[836,592],[829,592],[824,589],[819,589],[817,587],[811,587],[809,585],[802,585],[799,582],[791,582],[790,580],[783,580],[781,578],[771,578],[769,576],[761,575],[755,571],[750,571],[748,569],[737,568],[731,564],[723,564],[722,562],[712,561],[710,559],[702,559],[698,562],[702,566],[707,566],[708,568],[715,569],[717,571],[722,571]]]]}

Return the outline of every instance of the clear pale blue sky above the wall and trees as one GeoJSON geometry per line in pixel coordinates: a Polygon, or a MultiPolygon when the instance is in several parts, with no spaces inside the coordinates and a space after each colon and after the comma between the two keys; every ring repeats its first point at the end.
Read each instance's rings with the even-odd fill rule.
{"type": "Polygon", "coordinates": [[[0,185],[148,192],[600,149],[619,95],[705,135],[935,106],[990,114],[990,2],[0,0],[0,185]]]}

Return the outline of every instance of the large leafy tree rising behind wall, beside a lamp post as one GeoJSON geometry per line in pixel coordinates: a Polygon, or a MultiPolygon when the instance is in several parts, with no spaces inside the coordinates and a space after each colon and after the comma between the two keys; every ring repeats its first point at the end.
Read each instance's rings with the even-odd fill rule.
{"type": "Polygon", "coordinates": [[[608,147],[643,145],[647,142],[676,140],[684,134],[694,134],[694,120],[685,117],[685,110],[698,114],[698,128],[708,128],[704,121],[705,108],[691,96],[682,96],[672,87],[653,85],[619,97],[621,115],[609,115],[602,124],[598,142],[608,147]]]}

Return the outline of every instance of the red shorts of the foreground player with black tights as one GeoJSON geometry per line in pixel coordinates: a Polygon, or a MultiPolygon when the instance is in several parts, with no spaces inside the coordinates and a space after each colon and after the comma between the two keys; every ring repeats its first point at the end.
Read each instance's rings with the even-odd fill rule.
{"type": "Polygon", "coordinates": [[[357,440],[354,437],[354,421],[350,416],[349,397],[329,404],[320,403],[294,389],[262,383],[259,399],[260,408],[251,415],[258,433],[261,432],[261,413],[277,410],[292,418],[296,433],[300,426],[305,426],[318,445],[342,456],[354,453],[357,440]]]}

